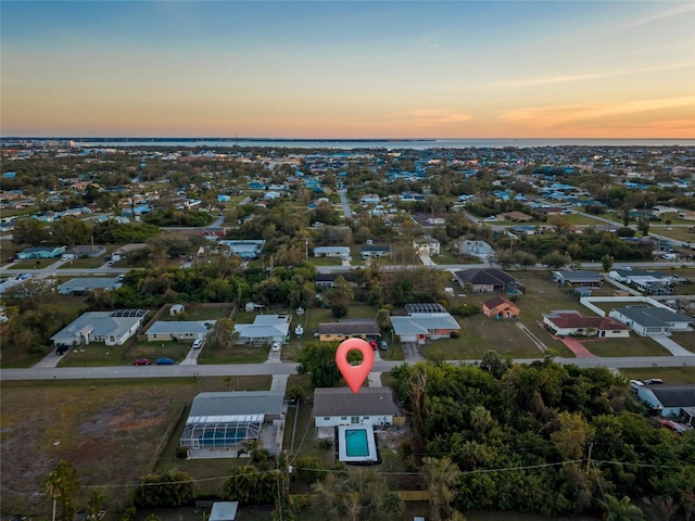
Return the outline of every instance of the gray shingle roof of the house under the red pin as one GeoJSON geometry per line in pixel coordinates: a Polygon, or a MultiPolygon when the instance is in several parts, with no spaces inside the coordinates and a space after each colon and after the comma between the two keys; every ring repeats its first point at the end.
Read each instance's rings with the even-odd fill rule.
{"type": "Polygon", "coordinates": [[[315,417],[326,416],[390,416],[397,415],[389,387],[361,387],[357,394],[349,387],[316,387],[315,417]]]}

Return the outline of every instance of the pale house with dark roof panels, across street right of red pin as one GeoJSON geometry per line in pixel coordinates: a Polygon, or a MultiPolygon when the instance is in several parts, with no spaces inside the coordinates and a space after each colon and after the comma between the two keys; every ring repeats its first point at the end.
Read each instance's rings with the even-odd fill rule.
{"type": "Polygon", "coordinates": [[[401,342],[448,339],[460,330],[456,319],[441,304],[406,304],[405,313],[407,316],[391,316],[393,333],[401,342]]]}

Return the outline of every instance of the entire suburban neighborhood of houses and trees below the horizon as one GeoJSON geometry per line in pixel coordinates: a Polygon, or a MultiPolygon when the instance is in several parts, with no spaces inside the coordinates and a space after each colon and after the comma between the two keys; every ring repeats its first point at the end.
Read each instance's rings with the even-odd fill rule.
{"type": "Polygon", "coordinates": [[[3,140],[3,514],[690,519],[695,147],[418,144],[3,140]]]}

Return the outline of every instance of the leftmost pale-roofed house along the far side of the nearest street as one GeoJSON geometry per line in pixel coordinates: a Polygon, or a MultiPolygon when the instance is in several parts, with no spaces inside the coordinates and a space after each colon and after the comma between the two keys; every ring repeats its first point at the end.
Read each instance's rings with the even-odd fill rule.
{"type": "Polygon", "coordinates": [[[147,316],[147,309],[85,313],[51,336],[51,341],[56,347],[92,342],[123,345],[140,329],[147,316]]]}

